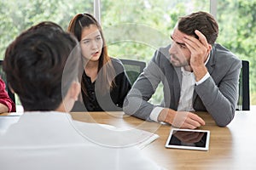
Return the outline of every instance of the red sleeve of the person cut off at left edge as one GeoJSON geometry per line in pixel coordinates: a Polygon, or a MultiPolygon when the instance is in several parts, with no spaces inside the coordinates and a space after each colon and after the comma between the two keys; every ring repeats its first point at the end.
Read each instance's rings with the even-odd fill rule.
{"type": "Polygon", "coordinates": [[[15,103],[9,98],[5,90],[5,83],[0,77],[0,103],[6,105],[9,108],[9,112],[15,112],[15,103]]]}

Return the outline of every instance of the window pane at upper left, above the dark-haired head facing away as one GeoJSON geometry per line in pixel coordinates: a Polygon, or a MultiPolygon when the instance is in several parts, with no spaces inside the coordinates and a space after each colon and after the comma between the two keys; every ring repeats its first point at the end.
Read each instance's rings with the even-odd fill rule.
{"type": "Polygon", "coordinates": [[[0,59],[3,59],[5,48],[21,31],[44,20],[54,21],[67,30],[73,15],[84,11],[93,14],[93,0],[0,1],[0,59]]]}

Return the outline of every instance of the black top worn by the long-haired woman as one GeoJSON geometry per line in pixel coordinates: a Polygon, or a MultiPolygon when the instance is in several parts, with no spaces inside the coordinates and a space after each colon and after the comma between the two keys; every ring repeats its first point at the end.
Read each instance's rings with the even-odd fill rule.
{"type": "MultiPolygon", "coordinates": [[[[84,71],[81,83],[84,83],[87,94],[84,94],[83,91],[81,92],[84,104],[76,102],[73,106],[73,111],[122,111],[126,94],[131,89],[131,82],[126,77],[124,65],[121,61],[113,58],[111,58],[111,61],[114,71],[118,74],[114,77],[115,85],[111,91],[103,95],[99,94],[96,91],[97,82],[91,82],[90,77],[84,71]]],[[[97,84],[98,86],[104,88],[106,85],[97,84]]]]}

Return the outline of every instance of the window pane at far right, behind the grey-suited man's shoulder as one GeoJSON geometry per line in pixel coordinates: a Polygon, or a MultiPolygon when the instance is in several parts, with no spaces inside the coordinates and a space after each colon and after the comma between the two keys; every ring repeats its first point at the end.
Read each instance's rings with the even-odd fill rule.
{"type": "Polygon", "coordinates": [[[256,105],[256,0],[218,1],[218,42],[249,61],[251,105],[256,105]]]}

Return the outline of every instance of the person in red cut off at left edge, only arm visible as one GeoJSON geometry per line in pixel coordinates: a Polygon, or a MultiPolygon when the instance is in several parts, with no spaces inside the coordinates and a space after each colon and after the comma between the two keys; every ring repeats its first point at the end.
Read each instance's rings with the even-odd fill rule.
{"type": "Polygon", "coordinates": [[[5,83],[0,77],[0,113],[15,112],[15,103],[5,90],[5,83]]]}

